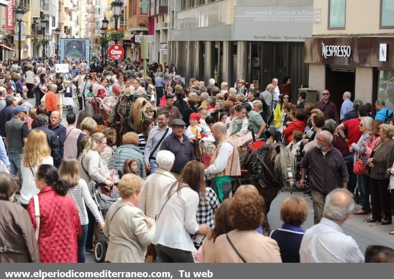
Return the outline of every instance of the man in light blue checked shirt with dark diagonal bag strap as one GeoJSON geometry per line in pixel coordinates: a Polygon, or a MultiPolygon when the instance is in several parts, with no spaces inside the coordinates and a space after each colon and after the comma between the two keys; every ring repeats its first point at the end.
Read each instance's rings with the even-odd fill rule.
{"type": "Polygon", "coordinates": [[[156,163],[156,155],[159,152],[165,137],[172,133],[172,128],[168,126],[168,112],[159,112],[158,122],[159,125],[155,126],[149,132],[144,150],[145,168],[147,171],[150,171],[151,174],[158,169],[158,165],[156,163]]]}

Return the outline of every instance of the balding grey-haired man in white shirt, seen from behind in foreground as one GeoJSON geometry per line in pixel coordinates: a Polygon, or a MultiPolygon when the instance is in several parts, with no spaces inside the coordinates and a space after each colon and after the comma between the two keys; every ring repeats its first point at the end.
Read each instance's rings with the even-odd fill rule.
{"type": "Polygon", "coordinates": [[[307,230],[299,248],[301,263],[361,263],[364,261],[353,237],[342,231],[355,202],[347,189],[337,188],[326,197],[323,218],[307,230]]]}

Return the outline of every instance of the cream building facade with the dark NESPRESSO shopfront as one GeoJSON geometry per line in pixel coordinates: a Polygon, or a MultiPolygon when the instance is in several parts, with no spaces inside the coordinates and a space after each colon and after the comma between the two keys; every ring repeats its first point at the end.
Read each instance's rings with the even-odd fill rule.
{"type": "Polygon", "coordinates": [[[393,0],[314,0],[312,36],[306,39],[309,87],[394,108],[393,0]],[[393,92],[392,92],[393,91],[393,92]]]}

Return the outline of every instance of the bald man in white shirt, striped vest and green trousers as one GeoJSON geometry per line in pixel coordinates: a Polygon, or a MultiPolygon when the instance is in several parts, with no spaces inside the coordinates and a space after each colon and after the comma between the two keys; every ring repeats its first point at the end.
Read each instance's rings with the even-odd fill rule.
{"type": "Polygon", "coordinates": [[[212,188],[220,202],[229,198],[231,192],[231,176],[241,175],[239,156],[236,146],[227,137],[227,127],[223,122],[212,126],[212,135],[218,146],[212,155],[211,165],[205,169],[212,181],[212,188]]]}

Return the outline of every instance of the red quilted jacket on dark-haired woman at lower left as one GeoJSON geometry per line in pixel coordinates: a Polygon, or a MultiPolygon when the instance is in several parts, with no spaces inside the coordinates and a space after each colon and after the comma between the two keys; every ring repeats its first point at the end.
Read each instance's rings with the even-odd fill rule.
{"type": "MultiPolygon", "coordinates": [[[[51,186],[38,194],[40,207],[40,231],[38,249],[43,263],[76,263],[78,261],[77,237],[81,234],[78,210],[72,197],[61,196],[51,186]]],[[[28,212],[33,229],[37,223],[34,200],[29,202],[28,212]]]]}

